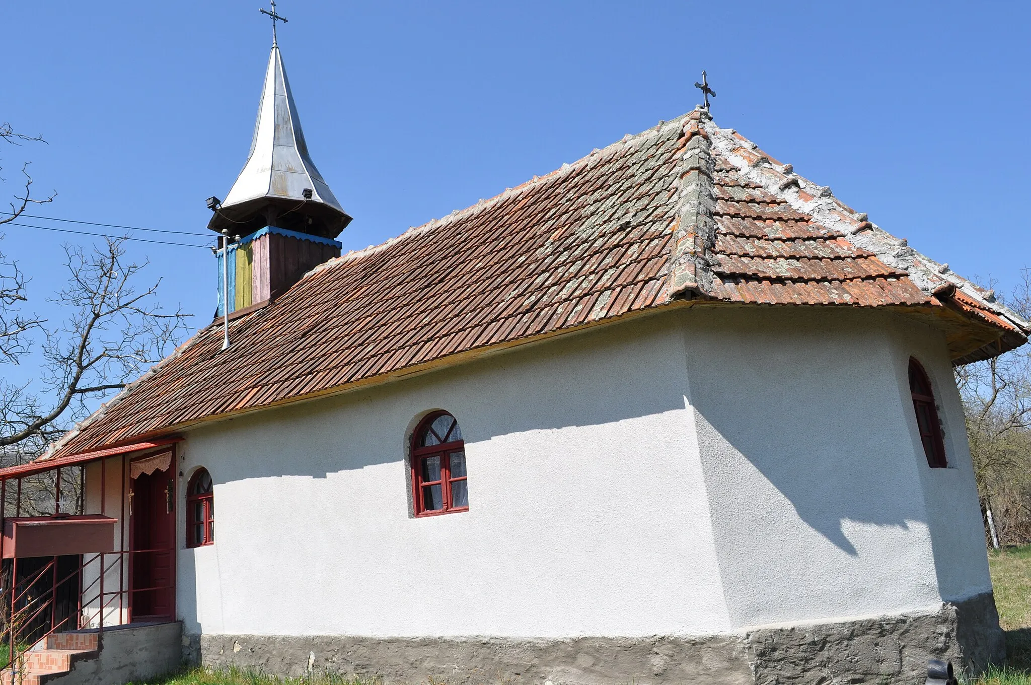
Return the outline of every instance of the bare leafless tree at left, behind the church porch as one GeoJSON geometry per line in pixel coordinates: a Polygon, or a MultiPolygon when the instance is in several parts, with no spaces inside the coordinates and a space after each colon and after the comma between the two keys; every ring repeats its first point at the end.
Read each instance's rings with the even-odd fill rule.
{"type": "MultiPolygon", "coordinates": [[[[12,144],[42,141],[0,125],[0,139],[12,144]]],[[[24,189],[0,225],[31,204],[32,178],[23,167],[24,189]]],[[[0,236],[2,237],[2,236],[0,236]]],[[[124,238],[106,238],[92,251],[65,246],[68,281],[49,301],[62,313],[52,323],[23,313],[28,280],[14,260],[0,255],[0,365],[39,363],[31,381],[0,378],[0,463],[38,456],[47,443],[91,405],[125,387],[142,369],[165,357],[186,331],[186,315],[158,302],[160,279],[140,285],[146,262],[127,259],[124,238]]]]}

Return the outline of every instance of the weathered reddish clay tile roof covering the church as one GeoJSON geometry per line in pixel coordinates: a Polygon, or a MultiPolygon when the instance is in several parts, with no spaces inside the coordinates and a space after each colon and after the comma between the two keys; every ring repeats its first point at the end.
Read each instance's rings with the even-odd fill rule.
{"type": "Polygon", "coordinates": [[[313,269],[212,325],[47,457],[342,392],[674,305],[890,307],[954,363],[1029,324],[700,109],[313,269]]]}

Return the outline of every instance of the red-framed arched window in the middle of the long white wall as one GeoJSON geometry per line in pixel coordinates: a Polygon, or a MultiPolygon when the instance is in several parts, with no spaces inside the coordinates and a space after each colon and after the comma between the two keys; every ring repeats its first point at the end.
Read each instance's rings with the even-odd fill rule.
{"type": "Polygon", "coordinates": [[[411,485],[415,516],[469,509],[465,442],[451,414],[434,412],[415,429],[411,437],[411,485]]]}

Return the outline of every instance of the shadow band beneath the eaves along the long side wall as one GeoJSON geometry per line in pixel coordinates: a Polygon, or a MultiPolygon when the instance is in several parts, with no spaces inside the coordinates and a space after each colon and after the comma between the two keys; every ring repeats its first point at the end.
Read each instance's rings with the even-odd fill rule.
{"type": "Polygon", "coordinates": [[[458,419],[467,444],[683,411],[683,336],[663,325],[667,317],[653,319],[222,422],[191,435],[192,456],[217,484],[321,479],[401,461],[414,419],[435,409],[458,419]]]}

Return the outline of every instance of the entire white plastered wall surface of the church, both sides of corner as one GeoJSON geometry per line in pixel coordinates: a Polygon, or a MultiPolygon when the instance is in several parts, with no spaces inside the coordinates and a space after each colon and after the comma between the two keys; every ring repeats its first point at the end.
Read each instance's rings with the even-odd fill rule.
{"type": "Polygon", "coordinates": [[[965,442],[949,474],[916,451],[910,348],[949,381],[895,315],[692,308],[199,428],[178,491],[208,468],[217,533],[178,523],[185,629],[697,634],[985,591],[965,442]],[[434,409],[470,511],[414,519],[405,433],[434,409]],[[925,503],[953,490],[952,518],[925,503]]]}

